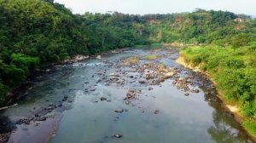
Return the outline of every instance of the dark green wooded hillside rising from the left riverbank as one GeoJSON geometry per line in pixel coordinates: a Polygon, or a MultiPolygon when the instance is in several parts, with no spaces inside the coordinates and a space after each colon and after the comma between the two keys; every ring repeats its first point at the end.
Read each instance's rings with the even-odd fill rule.
{"type": "Polygon", "coordinates": [[[129,15],[72,14],[52,0],[0,0],[0,106],[42,64],[148,44],[136,26],[129,15]]]}

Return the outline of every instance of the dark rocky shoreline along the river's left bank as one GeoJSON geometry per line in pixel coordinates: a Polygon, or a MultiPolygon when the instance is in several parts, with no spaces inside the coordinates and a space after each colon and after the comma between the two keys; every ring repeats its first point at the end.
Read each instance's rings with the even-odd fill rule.
{"type": "MultiPolygon", "coordinates": [[[[11,89],[9,91],[9,93],[6,95],[7,106],[11,106],[11,105],[15,104],[16,101],[21,100],[22,98],[26,97],[27,91],[31,90],[33,88],[33,81],[37,77],[44,76],[44,74],[49,74],[51,72],[55,72],[55,67],[70,66],[73,63],[88,60],[88,59],[101,60],[103,55],[118,54],[118,53],[124,52],[129,49],[131,49],[131,48],[115,49],[115,50],[111,50],[106,53],[102,53],[102,54],[100,54],[100,56],[99,55],[88,56],[88,55],[79,54],[79,55],[74,56],[71,60],[63,60],[58,63],[53,63],[48,66],[44,66],[41,69],[36,69],[29,77],[27,77],[26,82],[20,83],[19,85],[17,85],[16,87],[14,87],[13,89],[11,89]]],[[[29,125],[31,123],[44,122],[48,118],[54,118],[54,116],[47,116],[47,114],[50,112],[53,112],[53,110],[55,110],[55,109],[65,111],[65,108],[67,108],[67,106],[63,106],[64,102],[72,103],[73,99],[70,98],[70,100],[68,100],[68,96],[64,95],[62,100],[55,102],[55,103],[50,103],[49,106],[44,106],[44,107],[39,107],[39,108],[35,107],[33,109],[34,117],[20,118],[20,120],[17,121],[15,124],[16,125],[20,125],[20,124],[29,125]]],[[[38,126],[38,123],[36,123],[35,126],[38,126]]],[[[2,143],[2,142],[7,142],[9,140],[9,136],[10,136],[11,132],[13,130],[15,130],[16,127],[15,127],[15,125],[9,125],[8,123],[1,123],[0,129],[2,129],[0,132],[0,143],[2,143]]]]}

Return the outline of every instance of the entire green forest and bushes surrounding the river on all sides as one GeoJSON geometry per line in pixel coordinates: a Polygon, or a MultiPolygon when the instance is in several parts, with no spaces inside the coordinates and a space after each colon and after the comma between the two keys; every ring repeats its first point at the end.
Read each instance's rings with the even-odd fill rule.
{"type": "Polygon", "coordinates": [[[256,20],[227,11],[73,14],[52,0],[0,0],[0,104],[41,66],[152,43],[182,43],[181,55],[212,74],[256,134],[256,20]]]}

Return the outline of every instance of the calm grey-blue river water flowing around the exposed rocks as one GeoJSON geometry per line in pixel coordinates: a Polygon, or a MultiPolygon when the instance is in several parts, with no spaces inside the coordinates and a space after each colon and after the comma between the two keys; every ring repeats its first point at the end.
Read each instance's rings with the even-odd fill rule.
{"type": "Polygon", "coordinates": [[[55,66],[52,72],[34,79],[19,106],[1,112],[2,124],[15,126],[9,142],[253,142],[224,110],[212,84],[178,65],[177,57],[177,49],[131,49],[104,55],[102,60],[55,66]],[[142,58],[148,54],[159,57],[142,58]],[[135,66],[122,66],[131,56],[141,60],[135,66]],[[162,83],[150,83],[144,72],[137,72],[145,63],[165,64],[177,74],[162,83]],[[119,82],[109,80],[112,73],[119,74],[115,77],[119,82]],[[192,83],[189,89],[199,93],[184,95],[184,89],[173,83],[176,79],[188,79],[192,83]],[[124,100],[129,89],[137,90],[136,98],[124,100]],[[114,112],[120,109],[122,112],[114,112]],[[25,119],[28,122],[19,122],[25,119]]]}

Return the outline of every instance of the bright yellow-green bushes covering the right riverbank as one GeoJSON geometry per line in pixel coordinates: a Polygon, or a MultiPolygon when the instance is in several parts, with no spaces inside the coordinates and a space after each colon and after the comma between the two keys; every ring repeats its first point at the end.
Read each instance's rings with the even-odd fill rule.
{"type": "Polygon", "coordinates": [[[246,127],[255,134],[256,120],[256,51],[252,45],[229,48],[201,46],[183,49],[181,54],[201,70],[209,72],[224,95],[224,99],[241,106],[247,117],[246,127]],[[248,128],[248,124],[252,127],[248,128]],[[254,127],[254,128],[253,128],[254,127]]]}

